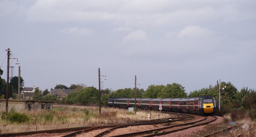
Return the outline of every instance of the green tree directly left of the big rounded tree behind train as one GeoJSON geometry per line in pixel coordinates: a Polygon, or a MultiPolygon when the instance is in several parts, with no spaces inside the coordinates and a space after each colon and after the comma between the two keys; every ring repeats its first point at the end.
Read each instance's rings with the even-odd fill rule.
{"type": "Polygon", "coordinates": [[[150,85],[143,93],[143,98],[157,98],[157,95],[164,88],[164,85],[150,85]]]}

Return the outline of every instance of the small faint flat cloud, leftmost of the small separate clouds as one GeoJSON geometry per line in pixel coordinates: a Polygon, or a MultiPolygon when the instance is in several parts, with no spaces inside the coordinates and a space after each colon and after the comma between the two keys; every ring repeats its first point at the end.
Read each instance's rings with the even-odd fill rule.
{"type": "Polygon", "coordinates": [[[71,27],[71,28],[59,30],[58,33],[66,33],[66,34],[78,35],[78,36],[92,36],[94,34],[94,31],[86,28],[71,27]]]}

